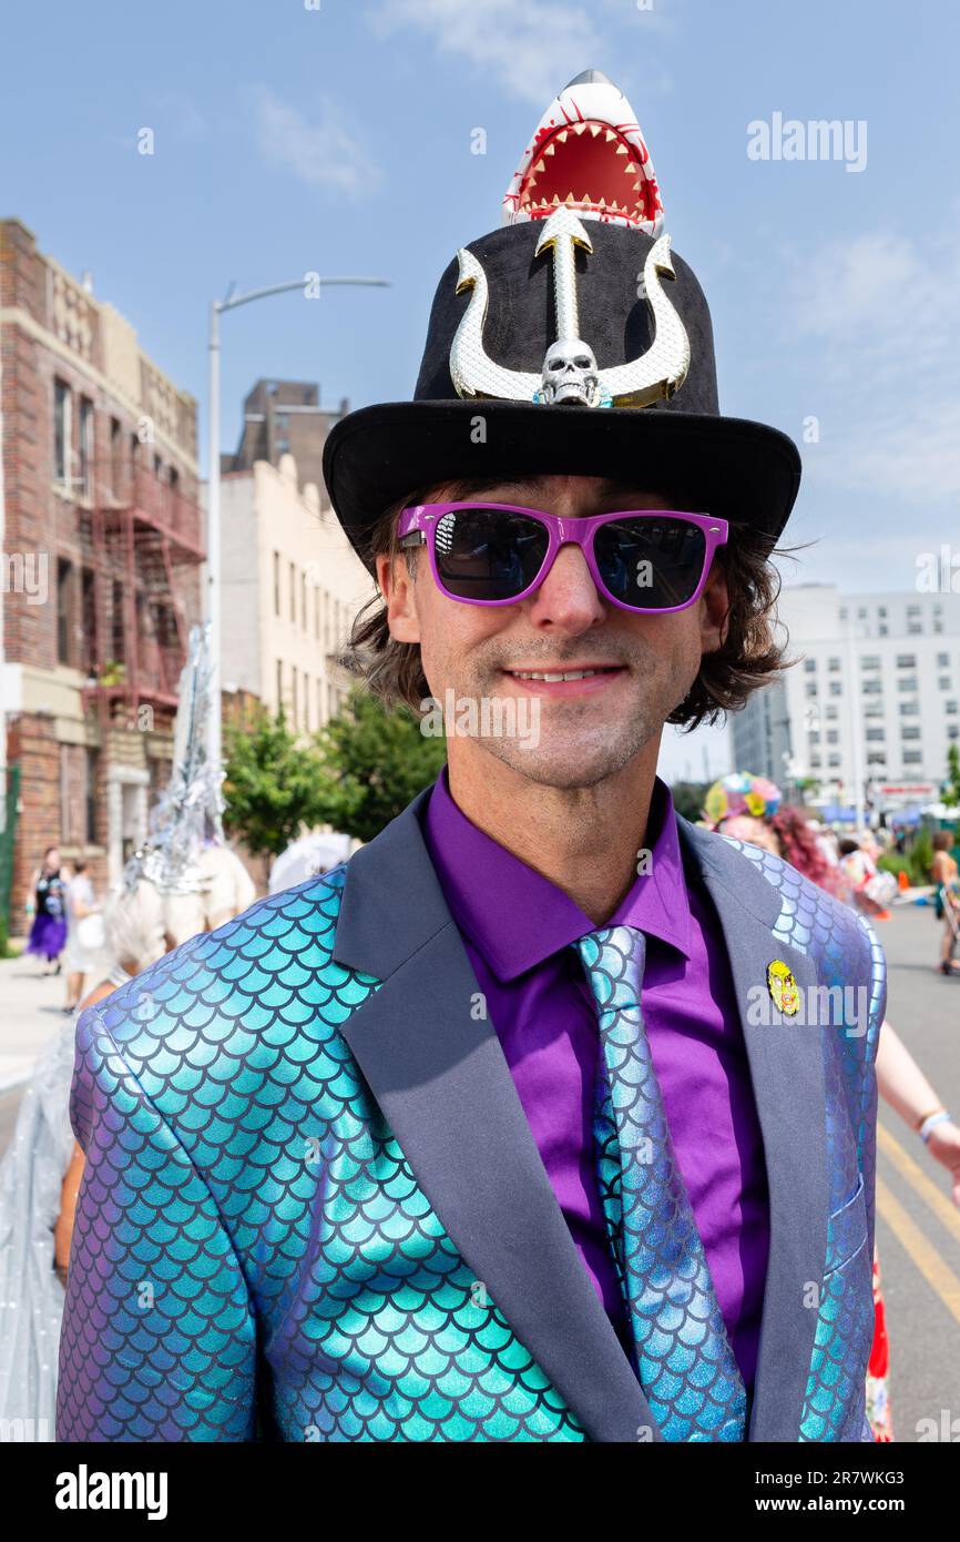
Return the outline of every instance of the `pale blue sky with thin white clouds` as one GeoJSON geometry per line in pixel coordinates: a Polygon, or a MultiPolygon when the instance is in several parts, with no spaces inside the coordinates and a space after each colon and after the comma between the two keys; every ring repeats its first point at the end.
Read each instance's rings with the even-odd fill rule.
{"type": "MultiPolygon", "coordinates": [[[[815,544],[786,580],[906,589],[918,554],[960,547],[960,22],[943,0],[46,0],[6,11],[3,48],[0,213],[91,270],[202,430],[206,307],[231,279],[393,281],[225,318],[225,449],[259,375],[319,379],[330,404],[408,396],[442,270],[499,224],[553,93],[604,69],[706,290],[721,410],[800,443],[787,530],[815,544]],[[750,159],[747,125],[777,113],[849,122],[866,165],[750,159]]],[[[700,740],[676,754],[703,769],[700,740]]]]}

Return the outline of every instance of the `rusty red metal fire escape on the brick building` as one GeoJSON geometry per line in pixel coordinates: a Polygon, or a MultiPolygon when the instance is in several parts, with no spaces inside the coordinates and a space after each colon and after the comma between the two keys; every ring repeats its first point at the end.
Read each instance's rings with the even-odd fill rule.
{"type": "Polygon", "coordinates": [[[203,561],[199,504],[176,472],[131,456],[96,466],[85,510],[94,567],[92,641],[85,702],[109,722],[140,722],[140,706],[173,714],[190,618],[183,569],[203,561]]]}

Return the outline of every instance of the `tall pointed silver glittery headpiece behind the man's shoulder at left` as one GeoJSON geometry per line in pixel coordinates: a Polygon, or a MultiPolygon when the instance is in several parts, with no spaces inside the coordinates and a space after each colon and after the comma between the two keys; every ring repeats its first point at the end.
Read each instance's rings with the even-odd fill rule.
{"type": "Polygon", "coordinates": [[[225,845],[223,769],[211,766],[206,757],[206,722],[214,711],[210,621],[190,629],[177,697],[170,782],[153,810],[146,842],[123,868],[126,893],[133,893],[143,877],[160,894],[199,894],[210,884],[200,871],[203,850],[225,845]]]}

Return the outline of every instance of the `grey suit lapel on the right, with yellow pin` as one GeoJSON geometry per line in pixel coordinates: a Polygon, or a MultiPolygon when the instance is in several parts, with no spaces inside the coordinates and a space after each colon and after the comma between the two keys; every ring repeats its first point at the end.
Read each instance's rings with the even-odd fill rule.
{"type": "Polygon", "coordinates": [[[823,1136],[823,1027],[757,1022],[750,1002],[767,992],[767,965],[783,961],[801,1001],[817,971],[807,954],[774,936],[781,896],[723,837],[678,819],[684,848],[717,907],[746,1042],[770,1195],[770,1252],[749,1440],[795,1442],[814,1354],[817,1309],[804,1305],[826,1257],[829,1184],[823,1136]]]}

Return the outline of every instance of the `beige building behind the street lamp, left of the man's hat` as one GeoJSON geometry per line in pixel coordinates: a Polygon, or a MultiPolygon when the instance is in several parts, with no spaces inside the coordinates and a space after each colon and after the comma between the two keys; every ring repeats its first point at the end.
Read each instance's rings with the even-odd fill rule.
{"type": "Polygon", "coordinates": [[[223,476],[220,554],[223,691],[314,732],[347,699],[337,660],[373,583],[316,484],[297,490],[293,455],[223,476]]]}

